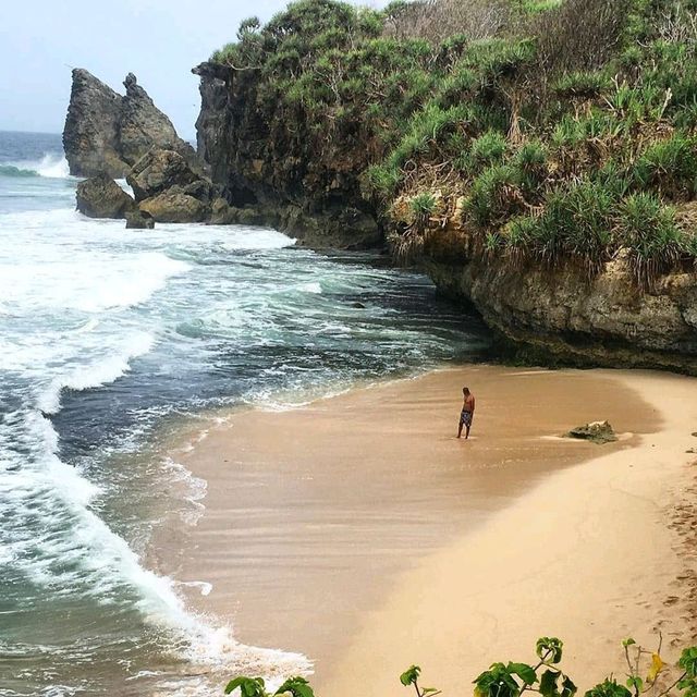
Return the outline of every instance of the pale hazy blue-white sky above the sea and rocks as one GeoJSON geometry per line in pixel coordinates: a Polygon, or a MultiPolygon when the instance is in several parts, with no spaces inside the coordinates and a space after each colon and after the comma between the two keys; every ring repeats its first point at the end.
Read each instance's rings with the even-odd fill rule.
{"type": "MultiPolygon", "coordinates": [[[[384,5],[386,2],[354,2],[384,5]]],[[[123,93],[133,72],[182,137],[194,138],[198,78],[191,69],[284,0],[8,0],[0,9],[0,131],[63,130],[71,69],[123,93]]]]}

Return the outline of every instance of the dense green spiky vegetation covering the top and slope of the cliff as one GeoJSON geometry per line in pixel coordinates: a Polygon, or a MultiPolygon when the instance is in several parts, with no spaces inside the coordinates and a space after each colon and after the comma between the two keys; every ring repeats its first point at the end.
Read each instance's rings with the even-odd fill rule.
{"type": "Polygon", "coordinates": [[[350,163],[400,253],[448,219],[463,254],[693,268],[697,0],[299,0],[211,60],[289,157],[350,163]]]}

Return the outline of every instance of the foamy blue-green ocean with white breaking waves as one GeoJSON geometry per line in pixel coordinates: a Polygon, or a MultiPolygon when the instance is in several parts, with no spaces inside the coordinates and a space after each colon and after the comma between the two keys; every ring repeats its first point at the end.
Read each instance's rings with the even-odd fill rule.
{"type": "Polygon", "coordinates": [[[375,255],[125,230],[77,213],[76,182],[60,135],[0,132],[0,695],[219,695],[221,667],[306,670],[149,567],[152,531],[195,525],[206,491],[158,444],[466,360],[487,332],[375,255]]]}

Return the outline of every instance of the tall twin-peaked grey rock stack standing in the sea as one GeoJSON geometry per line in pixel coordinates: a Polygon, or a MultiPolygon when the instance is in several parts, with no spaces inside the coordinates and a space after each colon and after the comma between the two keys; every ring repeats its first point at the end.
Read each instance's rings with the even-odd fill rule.
{"type": "Polygon", "coordinates": [[[200,170],[194,148],[176,135],[172,122],[129,73],[125,96],[83,69],[73,70],[63,149],[75,176],[125,176],[152,146],[174,150],[200,170]]]}

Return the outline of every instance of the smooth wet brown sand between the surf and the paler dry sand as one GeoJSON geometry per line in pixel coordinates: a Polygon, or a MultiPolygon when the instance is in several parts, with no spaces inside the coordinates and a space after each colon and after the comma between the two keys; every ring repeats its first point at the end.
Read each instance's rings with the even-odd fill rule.
{"type": "MultiPolygon", "coordinates": [[[[473,365],[358,389],[290,412],[230,414],[225,423],[213,427],[193,450],[176,452],[179,462],[194,476],[208,481],[209,493],[203,501],[206,509],[198,526],[158,536],[158,566],[183,584],[211,583],[213,590],[209,596],[186,592],[187,602],[196,612],[232,624],[236,640],[302,651],[315,660],[313,682],[321,694],[348,694],[351,685],[344,681],[342,686],[341,676],[355,675],[357,664],[354,661],[360,655],[360,651],[356,652],[356,641],[370,646],[365,638],[366,632],[370,632],[370,623],[387,626],[390,602],[402,592],[404,584],[408,584],[411,574],[417,575],[425,564],[432,563],[449,550],[452,552],[463,539],[485,534],[494,521],[505,517],[510,510],[522,505],[522,501],[546,486],[550,472],[575,473],[598,460],[597,455],[634,453],[643,448],[640,437],[632,433],[641,430],[643,424],[656,419],[656,415],[638,398],[636,380],[626,377],[636,375],[639,374],[519,370],[473,365]],[[454,440],[456,415],[453,412],[458,409],[460,388],[451,387],[453,381],[457,383],[460,378],[456,376],[463,371],[470,378],[475,394],[479,392],[478,418],[473,429],[474,438],[468,443],[454,440]],[[432,381],[440,381],[436,391],[432,381]],[[537,390],[539,403],[530,405],[527,416],[523,417],[524,430],[527,428],[530,433],[519,431],[519,419],[517,426],[511,423],[501,426],[506,418],[509,421],[517,418],[516,409],[508,408],[504,413],[500,405],[491,403],[500,396],[498,390],[509,390],[514,382],[522,383],[518,387],[524,394],[537,390]],[[481,389],[486,386],[488,393],[481,393],[477,384],[481,389]],[[599,387],[606,404],[601,409],[589,408],[586,402],[598,394],[599,387]],[[448,401],[444,402],[445,394],[448,401]],[[485,405],[490,402],[486,409],[480,402],[482,395],[486,396],[485,405]],[[552,400],[547,408],[542,398],[552,400]],[[380,421],[386,404],[392,409],[392,417],[380,421]],[[627,409],[627,405],[631,408],[627,409]],[[559,408],[550,409],[549,406],[559,408]],[[443,408],[447,411],[441,416],[443,408]],[[580,416],[579,412],[589,414],[586,420],[620,419],[617,430],[631,432],[621,442],[602,448],[558,440],[555,436],[560,430],[583,423],[580,418],[564,421],[571,416],[580,416]],[[545,414],[548,420],[538,423],[537,417],[545,414]],[[429,415],[438,416],[433,428],[440,437],[436,441],[428,440],[428,428],[424,426],[429,415]],[[405,419],[415,420],[405,426],[405,419]],[[528,420],[531,426],[526,426],[528,420]],[[564,428],[560,429],[562,423],[564,428]],[[632,428],[623,428],[623,424],[632,428]],[[414,425],[426,430],[416,432],[414,425]],[[513,432],[511,428],[513,431],[518,428],[518,431],[513,432]],[[278,447],[273,447],[269,432],[280,438],[278,447]],[[386,470],[383,465],[393,454],[390,448],[403,447],[404,439],[415,439],[418,448],[426,444],[429,449],[426,452],[439,458],[440,464],[416,472],[408,467],[405,480],[398,481],[400,491],[395,493],[390,489],[395,486],[394,473],[389,468],[386,470]],[[485,442],[492,440],[500,448],[487,455],[485,442]],[[360,453],[353,469],[367,468],[367,478],[356,479],[360,472],[352,474],[352,467],[346,468],[351,464],[342,460],[346,454],[342,449],[351,451],[346,441],[353,441],[354,452],[360,453]],[[387,448],[384,441],[389,442],[387,448]],[[513,441],[516,441],[515,447],[513,441]],[[453,466],[447,457],[443,461],[443,452],[452,445],[472,445],[477,457],[484,456],[480,466],[476,463],[475,466],[472,463],[467,467],[453,466]],[[338,457],[339,469],[326,470],[322,448],[325,460],[327,448],[334,460],[338,457]],[[372,457],[370,463],[365,461],[368,451],[372,457]],[[289,453],[296,460],[289,457],[289,453]],[[502,457],[502,454],[508,456],[502,457]],[[298,464],[298,456],[305,458],[304,465],[298,464]],[[582,462],[584,464],[579,465],[582,462]],[[319,469],[318,465],[321,465],[319,469]],[[407,502],[408,505],[401,509],[388,503],[384,511],[368,511],[375,519],[360,517],[366,514],[365,509],[356,515],[355,501],[352,503],[354,510],[348,510],[350,505],[346,510],[333,510],[332,496],[337,490],[351,490],[351,487],[345,488],[346,484],[356,481],[367,489],[377,487],[372,499],[369,490],[362,491],[362,496],[367,496],[371,502],[375,502],[376,493],[384,496],[390,491],[399,499],[398,503],[407,502]],[[463,482],[469,487],[467,491],[463,489],[463,482]],[[493,490],[491,485],[494,485],[493,490]],[[420,491],[418,487],[421,487],[420,491]],[[409,490],[412,493],[406,496],[405,491],[409,490]],[[288,498],[289,493],[296,500],[288,498]],[[284,509],[269,505],[277,497],[284,509]],[[469,506],[464,512],[463,497],[469,506]],[[247,504],[240,503],[247,499],[247,504]],[[307,505],[297,505],[298,501],[307,505]],[[408,516],[404,516],[404,511],[409,512],[408,516]],[[346,528],[351,531],[352,526],[353,533],[358,533],[357,537],[346,534],[346,528]],[[356,588],[356,578],[362,579],[363,587],[356,588]],[[388,614],[381,615],[381,612],[388,614]],[[358,640],[357,637],[362,638],[358,640]]],[[[653,379],[659,382],[689,380],[663,374],[657,374],[653,379]]],[[[414,449],[414,442],[408,443],[407,450],[414,449]]],[[[423,450],[420,453],[424,455],[423,450]]],[[[414,456],[418,460],[418,452],[414,456]]],[[[356,461],[355,455],[353,460],[356,461]]],[[[555,476],[551,475],[552,478],[555,476]]],[[[386,629],[384,634],[391,633],[386,629]]],[[[407,645],[403,651],[394,644],[392,646],[400,665],[411,661],[426,664],[428,657],[413,656],[407,645]]],[[[511,658],[524,660],[529,652],[529,648],[525,648],[523,656],[511,658]]],[[[477,663],[477,669],[498,658],[505,656],[489,651],[484,662],[477,663]]],[[[379,662],[380,670],[389,664],[384,656],[379,662]]],[[[364,673],[368,663],[362,659],[364,673]]],[[[426,670],[426,665],[424,668],[426,670]]],[[[384,689],[393,688],[391,680],[394,676],[388,670],[384,674],[390,675],[384,689]]],[[[444,685],[442,681],[439,684],[444,685]]]]}

